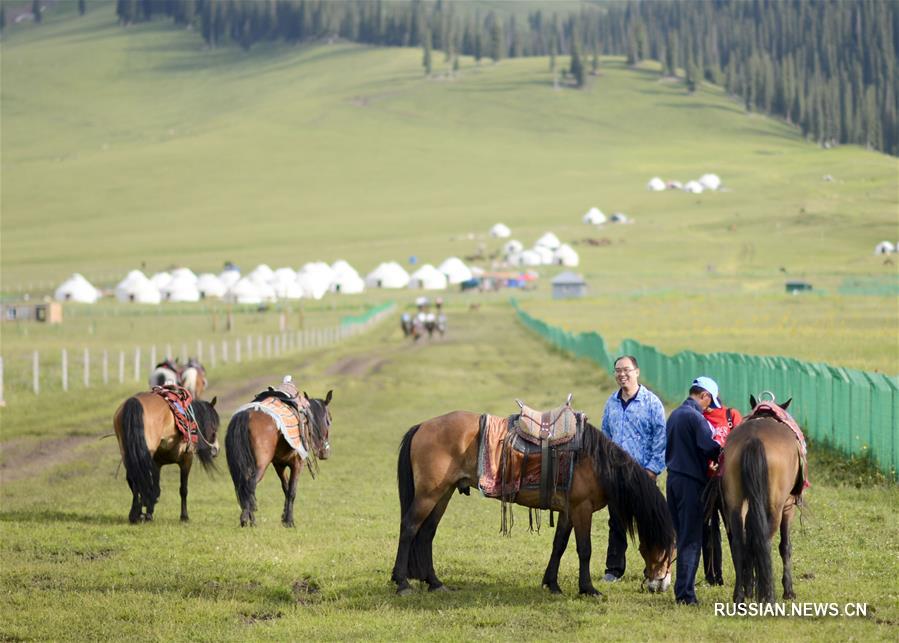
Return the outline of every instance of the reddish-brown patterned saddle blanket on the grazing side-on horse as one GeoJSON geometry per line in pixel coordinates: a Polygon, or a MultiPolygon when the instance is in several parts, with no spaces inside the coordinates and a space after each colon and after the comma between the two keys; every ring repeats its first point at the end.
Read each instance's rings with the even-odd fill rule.
{"type": "MultiPolygon", "coordinates": [[[[510,432],[509,420],[496,415],[485,417],[478,449],[478,488],[488,498],[511,499],[521,489],[540,488],[540,450],[521,439],[514,429],[510,432]]],[[[574,452],[553,447],[556,450],[554,487],[567,491],[574,471],[574,452]]]]}

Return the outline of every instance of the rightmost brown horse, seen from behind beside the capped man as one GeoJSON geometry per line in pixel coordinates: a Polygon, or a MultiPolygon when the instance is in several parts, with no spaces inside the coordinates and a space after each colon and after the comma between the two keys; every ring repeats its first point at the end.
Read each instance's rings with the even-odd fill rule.
{"type": "MultiPolygon", "coordinates": [[[[779,404],[786,410],[792,399],[779,404]]],[[[749,403],[756,408],[755,397],[749,403]]],[[[793,430],[758,411],[727,438],[724,450],[723,494],[736,582],[734,603],[746,598],[774,601],[771,539],[780,531],[784,599],[793,592],[790,522],[802,492],[804,475],[800,445],[793,430]]]]}

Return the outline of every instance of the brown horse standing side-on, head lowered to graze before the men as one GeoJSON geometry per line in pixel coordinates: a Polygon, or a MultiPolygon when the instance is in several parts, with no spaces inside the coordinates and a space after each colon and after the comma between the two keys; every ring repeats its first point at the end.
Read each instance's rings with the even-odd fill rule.
{"type": "MultiPolygon", "coordinates": [[[[409,579],[445,589],[434,572],[431,546],[453,492],[468,494],[478,484],[480,415],[454,411],[413,426],[403,437],[397,462],[400,495],[400,536],[392,579],[398,594],[412,591],[409,579]]],[[[574,477],[566,498],[557,493],[552,509],[560,512],[553,551],[543,586],[560,593],[559,562],[572,529],[580,560],[581,594],[599,594],[590,578],[590,527],[593,513],[606,505],[621,524],[640,536],[640,553],[650,591],[670,584],[674,528],[665,498],[646,472],[623,449],[589,423],[576,452],[574,477]]],[[[522,489],[514,502],[540,506],[539,490],[522,489]]]]}

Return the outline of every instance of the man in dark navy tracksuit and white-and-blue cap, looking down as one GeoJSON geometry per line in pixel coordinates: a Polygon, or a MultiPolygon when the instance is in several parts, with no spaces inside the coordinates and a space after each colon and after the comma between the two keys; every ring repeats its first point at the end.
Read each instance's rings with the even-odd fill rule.
{"type": "Polygon", "coordinates": [[[674,599],[696,605],[696,569],[702,547],[702,489],[708,461],[718,457],[721,447],[712,439],[712,429],[702,416],[709,406],[718,408],[718,385],[710,377],[697,377],[689,397],[671,412],[665,426],[668,467],[668,510],[677,533],[677,578],[674,599]]]}

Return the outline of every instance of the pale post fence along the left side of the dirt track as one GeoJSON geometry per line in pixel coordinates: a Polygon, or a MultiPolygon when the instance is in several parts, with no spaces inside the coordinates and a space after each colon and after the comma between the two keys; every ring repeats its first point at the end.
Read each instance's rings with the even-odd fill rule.
{"type": "MultiPolygon", "coordinates": [[[[196,341],[197,346],[197,355],[199,356],[206,355],[209,360],[210,368],[215,368],[219,362],[223,364],[236,363],[240,364],[242,361],[251,361],[255,359],[263,359],[263,358],[277,358],[283,355],[304,351],[311,348],[319,348],[323,346],[328,346],[334,343],[337,343],[343,339],[347,339],[362,333],[369,328],[371,328],[374,324],[381,321],[385,315],[389,314],[394,308],[393,302],[388,304],[383,304],[381,306],[377,306],[375,308],[370,309],[367,313],[363,315],[344,317],[340,320],[339,325],[335,327],[329,328],[315,328],[315,329],[303,329],[297,331],[287,331],[281,330],[277,334],[274,335],[247,335],[245,339],[241,339],[239,337],[234,338],[233,352],[231,351],[230,340],[229,339],[221,339],[221,340],[210,340],[204,341],[202,339],[198,339],[196,341]],[[219,345],[219,341],[221,344],[219,345]],[[254,347],[255,344],[255,347],[254,347]],[[263,348],[264,347],[264,348],[263,348]],[[243,348],[246,348],[246,351],[243,352],[243,348]],[[255,348],[255,351],[254,351],[255,348]],[[217,350],[218,349],[218,350],[217,350]],[[205,351],[205,352],[204,352],[205,351]]],[[[187,346],[188,344],[183,343],[181,345],[182,351],[182,361],[186,361],[187,355],[187,346]]],[[[176,357],[172,355],[172,344],[166,344],[166,353],[164,358],[176,357]]],[[[126,359],[126,350],[130,349],[119,349],[118,350],[118,384],[124,384],[126,381],[126,368],[129,366],[127,364],[126,359]]],[[[146,353],[144,353],[144,349],[141,346],[135,346],[133,349],[133,375],[135,382],[145,381],[143,377],[143,369],[141,368],[143,362],[143,356],[146,355],[150,358],[150,363],[148,367],[153,367],[157,362],[156,358],[158,357],[157,346],[155,344],[149,346],[145,349],[146,353]]],[[[85,347],[82,349],[82,377],[81,377],[81,387],[80,388],[91,388],[92,386],[96,386],[98,381],[102,382],[102,384],[109,384],[110,373],[109,373],[109,351],[108,349],[103,349],[101,351],[101,356],[99,359],[99,367],[100,367],[100,377],[97,378],[96,374],[92,378],[91,370],[92,367],[96,368],[96,355],[94,356],[94,360],[91,359],[91,351],[89,348],[85,347]]],[[[75,358],[77,360],[77,358],[75,358]]],[[[59,353],[59,362],[47,364],[45,362],[44,372],[41,370],[41,355],[40,351],[33,351],[31,354],[31,386],[29,387],[27,384],[28,381],[28,358],[27,356],[24,358],[22,362],[24,366],[21,367],[12,367],[12,370],[19,372],[19,378],[13,380],[14,389],[20,390],[24,388],[28,390],[31,389],[34,395],[41,394],[41,384],[47,383],[48,381],[51,383],[51,390],[55,388],[55,386],[60,386],[63,392],[68,392],[70,390],[69,387],[69,350],[67,348],[62,348],[59,353]],[[59,367],[59,371],[57,371],[57,366],[59,367]],[[50,380],[46,378],[49,377],[50,380]],[[59,378],[59,379],[57,379],[59,378]],[[16,384],[18,382],[18,384],[16,384]],[[58,382],[59,384],[53,384],[54,382],[58,382]]],[[[4,405],[4,383],[9,384],[9,380],[5,379],[10,375],[10,363],[9,360],[6,359],[4,361],[3,356],[0,356],[0,406],[4,405]]],[[[77,372],[75,374],[75,388],[79,389],[78,385],[78,377],[77,372]]],[[[9,389],[9,386],[6,387],[9,389]]],[[[58,390],[58,389],[57,389],[58,390]]]]}

